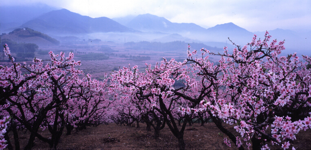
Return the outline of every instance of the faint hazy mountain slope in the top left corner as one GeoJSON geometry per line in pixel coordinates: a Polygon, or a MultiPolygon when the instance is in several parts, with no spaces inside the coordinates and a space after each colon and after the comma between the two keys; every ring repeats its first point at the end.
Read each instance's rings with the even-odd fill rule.
{"type": "Polygon", "coordinates": [[[48,6],[46,4],[36,3],[32,5],[18,5],[18,6],[0,6],[0,30],[6,30],[12,27],[17,27],[23,23],[35,19],[45,13],[57,8],[48,6]]]}

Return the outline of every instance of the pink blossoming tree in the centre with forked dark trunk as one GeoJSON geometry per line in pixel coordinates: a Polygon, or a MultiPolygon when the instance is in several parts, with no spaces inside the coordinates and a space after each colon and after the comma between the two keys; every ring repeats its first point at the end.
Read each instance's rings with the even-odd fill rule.
{"type": "Polygon", "coordinates": [[[113,91],[120,93],[122,101],[127,98],[136,99],[141,104],[135,105],[144,105],[145,112],[152,112],[153,119],[157,122],[157,125],[153,126],[155,135],[166,123],[178,139],[179,148],[185,149],[183,135],[187,120],[191,118],[191,111],[197,111],[194,108],[197,108],[200,101],[211,93],[206,91],[209,87],[190,76],[192,73],[186,61],[164,59],[154,68],[146,64],[144,72],[139,72],[137,66],[123,67],[111,75],[110,86],[113,91]],[[185,86],[175,87],[176,80],[184,81],[185,86]],[[179,129],[175,120],[180,115],[186,119],[179,129]]]}

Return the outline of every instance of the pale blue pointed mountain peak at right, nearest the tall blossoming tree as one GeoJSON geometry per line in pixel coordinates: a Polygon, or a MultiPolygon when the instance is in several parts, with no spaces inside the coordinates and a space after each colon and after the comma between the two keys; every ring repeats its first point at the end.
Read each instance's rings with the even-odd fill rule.
{"type": "Polygon", "coordinates": [[[215,42],[227,42],[232,44],[230,40],[233,42],[244,45],[247,42],[250,42],[254,34],[252,32],[247,31],[244,28],[241,28],[235,25],[232,22],[225,24],[218,24],[214,27],[208,28],[205,31],[206,37],[204,38],[207,41],[215,41],[215,42]]]}

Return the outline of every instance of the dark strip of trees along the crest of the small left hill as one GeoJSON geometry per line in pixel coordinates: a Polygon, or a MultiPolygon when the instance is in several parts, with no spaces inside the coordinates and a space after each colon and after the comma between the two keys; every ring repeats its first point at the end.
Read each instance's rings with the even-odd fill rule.
{"type": "MultiPolygon", "coordinates": [[[[30,28],[24,28],[24,29],[26,31],[28,31],[28,33],[30,35],[18,35],[18,37],[41,37],[41,38],[44,38],[44,39],[52,42],[55,45],[59,45],[59,43],[60,43],[57,39],[51,38],[50,36],[48,36],[46,34],[43,34],[43,33],[39,32],[39,31],[35,31],[33,29],[30,29],[30,28]]],[[[19,32],[19,31],[24,30],[24,29],[21,29],[21,28],[15,29],[14,31],[10,32],[9,35],[10,34],[14,34],[15,32],[19,32]]]]}

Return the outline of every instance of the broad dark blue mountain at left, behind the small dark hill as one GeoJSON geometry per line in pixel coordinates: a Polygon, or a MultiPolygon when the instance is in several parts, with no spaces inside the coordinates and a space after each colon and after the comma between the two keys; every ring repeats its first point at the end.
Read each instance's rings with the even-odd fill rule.
{"type": "Polygon", "coordinates": [[[106,18],[90,18],[67,9],[54,10],[27,21],[20,26],[55,35],[76,35],[95,32],[135,32],[120,23],[106,18]]]}

